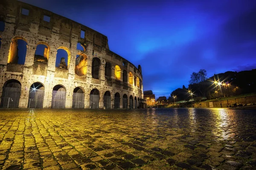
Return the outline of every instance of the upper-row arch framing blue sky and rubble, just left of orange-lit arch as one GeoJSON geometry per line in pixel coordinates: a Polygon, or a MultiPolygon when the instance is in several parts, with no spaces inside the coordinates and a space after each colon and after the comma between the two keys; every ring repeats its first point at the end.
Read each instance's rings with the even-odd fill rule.
{"type": "Polygon", "coordinates": [[[57,50],[55,67],[67,69],[70,64],[70,51],[66,47],[60,47],[57,50]]]}

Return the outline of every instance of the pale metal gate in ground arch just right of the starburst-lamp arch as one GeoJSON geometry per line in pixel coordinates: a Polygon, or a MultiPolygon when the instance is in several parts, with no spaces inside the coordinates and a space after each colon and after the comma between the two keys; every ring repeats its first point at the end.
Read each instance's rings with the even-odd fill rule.
{"type": "Polygon", "coordinates": [[[52,108],[65,108],[66,91],[52,91],[52,108]]]}

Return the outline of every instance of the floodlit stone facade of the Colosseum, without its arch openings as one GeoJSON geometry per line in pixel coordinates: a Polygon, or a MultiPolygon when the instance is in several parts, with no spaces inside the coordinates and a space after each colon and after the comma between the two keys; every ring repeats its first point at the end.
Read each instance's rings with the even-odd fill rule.
{"type": "Polygon", "coordinates": [[[18,81],[21,85],[19,108],[29,107],[29,93],[33,83],[40,83],[44,87],[43,108],[52,107],[52,91],[56,85],[66,91],[64,108],[72,108],[74,89],[78,87],[84,94],[82,108],[91,108],[90,94],[93,89],[99,92],[99,108],[104,107],[104,95],[109,93],[111,108],[114,106],[116,93],[120,96],[120,108],[123,106],[122,98],[125,94],[128,96],[127,106],[139,106],[140,99],[143,99],[141,67],[139,65],[136,68],[128,60],[110,51],[105,35],[73,20],[16,0],[1,0],[0,21],[4,23],[4,30],[0,31],[0,96],[3,95],[6,81],[18,81]],[[28,15],[22,14],[23,9],[29,11],[28,15]],[[50,18],[49,22],[44,20],[45,16],[50,18]],[[81,36],[81,32],[84,36],[81,36]],[[27,43],[24,64],[15,61],[17,51],[20,50],[15,46],[17,40],[27,43]],[[78,43],[84,50],[77,49],[78,43]],[[40,44],[47,46],[43,62],[35,59],[35,50],[40,44]],[[67,68],[55,67],[58,49],[67,52],[67,68]],[[77,55],[84,58],[81,58],[83,62],[76,65],[77,55]],[[99,65],[94,66],[93,59],[99,65]],[[105,73],[106,63],[111,64],[108,76],[105,73]],[[115,77],[116,65],[121,69],[118,80],[115,77]],[[77,74],[76,71],[80,68],[83,71],[77,74]],[[93,78],[95,70],[97,78],[93,78]],[[124,82],[124,79],[128,81],[124,82]]]}

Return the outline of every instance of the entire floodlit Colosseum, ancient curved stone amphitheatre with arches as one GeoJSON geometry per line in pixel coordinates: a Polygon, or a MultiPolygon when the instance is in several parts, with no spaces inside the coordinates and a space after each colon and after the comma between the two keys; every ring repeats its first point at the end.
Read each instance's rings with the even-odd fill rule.
{"type": "Polygon", "coordinates": [[[1,108],[140,108],[141,66],[108,38],[16,0],[0,2],[1,108]]]}

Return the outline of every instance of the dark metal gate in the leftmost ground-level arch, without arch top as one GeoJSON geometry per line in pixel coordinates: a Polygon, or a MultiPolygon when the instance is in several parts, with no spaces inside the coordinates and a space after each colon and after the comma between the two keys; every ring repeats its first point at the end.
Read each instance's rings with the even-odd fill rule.
{"type": "Polygon", "coordinates": [[[20,103],[20,88],[3,88],[1,108],[18,108],[20,103]]]}

